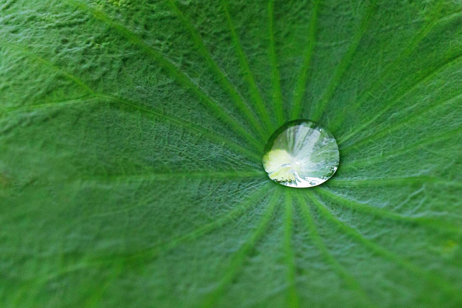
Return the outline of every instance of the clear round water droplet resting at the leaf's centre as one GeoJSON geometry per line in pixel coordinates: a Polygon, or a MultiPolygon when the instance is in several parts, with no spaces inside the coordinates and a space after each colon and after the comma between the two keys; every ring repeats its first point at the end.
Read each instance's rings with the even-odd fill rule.
{"type": "Polygon", "coordinates": [[[334,136],[316,122],[290,121],[271,135],[263,152],[263,167],[275,182],[311,187],[327,181],[339,166],[334,136]]]}

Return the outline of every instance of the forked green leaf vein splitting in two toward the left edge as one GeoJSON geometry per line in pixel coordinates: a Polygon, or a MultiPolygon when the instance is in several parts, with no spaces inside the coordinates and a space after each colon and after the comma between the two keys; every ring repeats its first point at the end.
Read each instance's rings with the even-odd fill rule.
{"type": "MultiPolygon", "coordinates": [[[[43,59],[42,57],[30,52],[26,48],[22,48],[16,45],[12,45],[9,43],[4,43],[2,42],[3,46],[7,46],[8,48],[12,48],[14,50],[18,50],[20,52],[23,52],[24,54],[29,55],[33,59],[37,60],[39,63],[42,63],[45,66],[48,66],[55,70],[56,72],[61,73],[63,76],[67,77],[68,79],[72,80],[75,82],[77,85],[80,85],[83,89],[91,93],[93,97],[100,97],[104,98],[106,100],[112,101],[114,103],[119,103],[125,106],[128,106],[132,109],[140,110],[143,111],[146,115],[153,116],[156,120],[159,121],[164,121],[165,123],[168,124],[175,124],[179,127],[186,128],[192,132],[195,133],[200,133],[202,136],[207,138],[208,140],[212,141],[215,144],[218,145],[226,145],[230,149],[233,149],[237,152],[241,152],[245,155],[247,155],[249,158],[253,158],[256,161],[261,160],[261,156],[255,152],[255,151],[250,151],[249,149],[244,148],[242,145],[237,144],[236,142],[232,141],[231,139],[227,139],[217,133],[210,133],[208,130],[199,127],[195,124],[192,124],[188,121],[185,121],[183,119],[177,118],[173,115],[165,115],[163,112],[156,111],[154,109],[147,109],[145,107],[142,107],[144,103],[141,102],[135,102],[132,100],[129,100],[128,98],[121,98],[121,97],[115,97],[112,95],[108,94],[103,94],[103,93],[97,93],[94,90],[92,90],[88,85],[86,85],[81,79],[77,78],[76,76],[64,71],[58,66],[55,66],[53,63],[51,63],[49,60],[43,59]]],[[[88,98],[90,99],[90,98],[88,98]]],[[[24,109],[38,109],[38,108],[48,108],[48,107],[55,107],[59,105],[66,105],[66,104],[72,104],[72,103],[85,103],[87,102],[87,99],[82,98],[82,99],[74,99],[74,100],[69,100],[69,101],[62,101],[62,102],[57,102],[57,103],[48,103],[48,104],[40,104],[40,105],[30,105],[30,106],[24,106],[24,107],[14,107],[12,108],[11,111],[16,111],[17,110],[22,110],[24,109]],[[36,107],[34,107],[36,106],[36,107]]],[[[8,110],[7,110],[8,111],[8,110]]],[[[261,145],[258,146],[260,148],[261,145]]]]}

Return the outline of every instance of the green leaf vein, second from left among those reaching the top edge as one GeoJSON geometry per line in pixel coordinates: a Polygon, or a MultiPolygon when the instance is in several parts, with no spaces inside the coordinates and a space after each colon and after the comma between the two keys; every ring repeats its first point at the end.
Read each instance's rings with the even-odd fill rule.
{"type": "Polygon", "coordinates": [[[218,77],[221,85],[230,94],[230,96],[232,97],[232,99],[236,103],[237,108],[243,113],[243,115],[247,118],[249,123],[260,134],[261,139],[266,141],[266,139],[268,137],[267,133],[265,132],[263,127],[261,127],[260,122],[257,121],[252,109],[250,109],[250,107],[244,102],[242,96],[237,92],[236,87],[225,76],[225,73],[222,72],[222,70],[218,66],[217,62],[215,60],[213,60],[212,55],[210,54],[209,50],[205,46],[205,43],[204,43],[201,35],[195,29],[195,26],[193,25],[192,21],[186,15],[184,15],[183,12],[180,11],[178,6],[176,6],[174,0],[167,0],[167,1],[170,3],[170,6],[172,7],[173,11],[176,13],[176,15],[182,21],[182,24],[188,29],[189,33],[191,33],[191,36],[192,36],[195,44],[199,48],[199,51],[201,52],[201,55],[206,60],[207,64],[212,68],[213,72],[218,77]]]}

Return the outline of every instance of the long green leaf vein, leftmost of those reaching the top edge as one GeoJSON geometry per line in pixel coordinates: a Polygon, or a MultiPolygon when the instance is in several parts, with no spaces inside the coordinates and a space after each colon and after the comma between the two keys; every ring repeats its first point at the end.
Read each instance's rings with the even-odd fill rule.
{"type": "Polygon", "coordinates": [[[136,36],[131,30],[128,30],[123,25],[116,23],[114,20],[109,18],[105,13],[100,10],[97,10],[91,6],[86,5],[83,2],[78,0],[67,0],[68,2],[78,6],[80,9],[91,13],[95,18],[103,21],[105,24],[108,24],[114,30],[132,42],[135,46],[138,46],[149,54],[160,66],[162,66],[167,72],[175,76],[176,80],[182,85],[191,89],[198,97],[201,98],[201,102],[204,103],[204,106],[207,107],[211,112],[213,112],[219,119],[225,121],[236,133],[240,136],[243,136],[249,143],[254,145],[257,149],[261,148],[261,143],[255,139],[249,132],[247,132],[243,125],[236,121],[232,117],[229,111],[225,110],[219,103],[217,103],[212,97],[210,97],[204,90],[202,90],[198,85],[196,85],[185,73],[181,72],[179,68],[173,64],[170,60],[165,58],[164,55],[160,54],[152,46],[148,45],[146,42],[141,40],[136,36]]]}

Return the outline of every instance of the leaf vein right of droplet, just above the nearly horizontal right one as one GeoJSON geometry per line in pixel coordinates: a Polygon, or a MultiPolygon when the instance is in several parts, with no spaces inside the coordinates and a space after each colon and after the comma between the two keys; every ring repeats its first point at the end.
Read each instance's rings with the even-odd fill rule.
{"type": "Polygon", "coordinates": [[[447,138],[450,138],[454,135],[458,135],[459,133],[462,132],[462,126],[456,127],[454,129],[451,129],[450,131],[443,132],[437,135],[430,136],[428,138],[423,138],[420,139],[419,141],[408,145],[402,149],[398,149],[396,151],[389,151],[388,153],[381,152],[379,156],[374,156],[374,157],[368,157],[368,158],[363,158],[363,159],[357,159],[353,160],[352,162],[345,163],[345,165],[342,167],[342,170],[345,171],[347,169],[352,169],[352,168],[358,168],[364,165],[368,165],[371,163],[375,162],[380,162],[383,161],[385,158],[393,157],[396,155],[400,155],[403,153],[406,153],[407,151],[411,151],[415,148],[418,148],[419,146],[422,145],[427,145],[427,144],[432,144],[433,142],[441,141],[447,138]]]}

